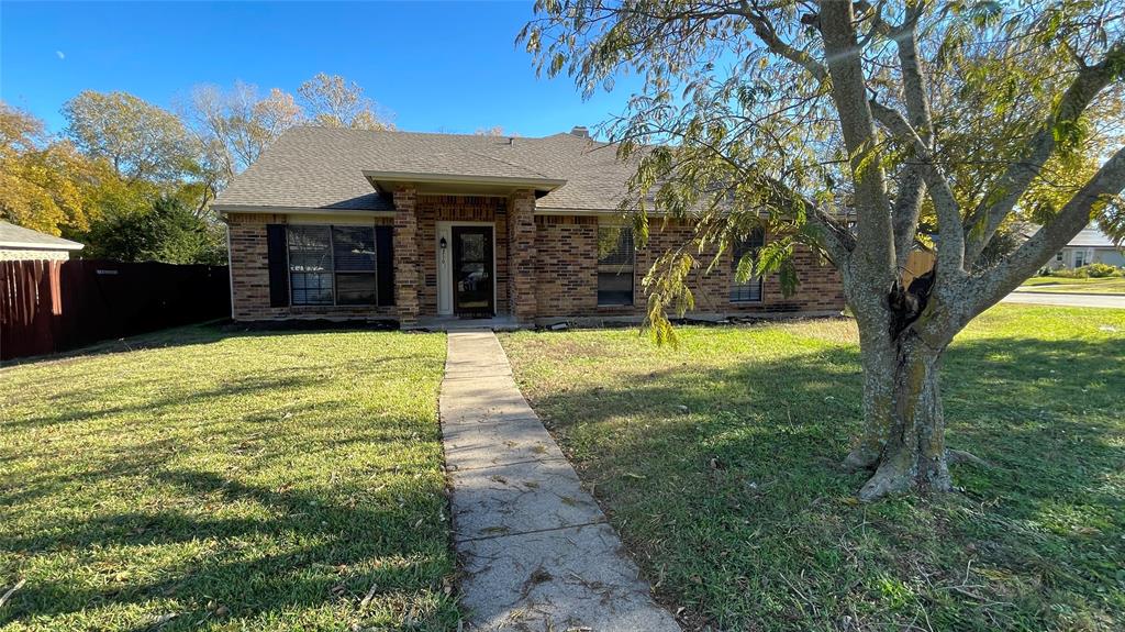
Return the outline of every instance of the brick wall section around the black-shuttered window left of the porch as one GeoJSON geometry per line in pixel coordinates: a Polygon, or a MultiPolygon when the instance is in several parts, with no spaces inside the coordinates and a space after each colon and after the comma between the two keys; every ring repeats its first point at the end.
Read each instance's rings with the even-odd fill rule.
{"type": "MultiPolygon", "coordinates": [[[[269,252],[266,244],[267,224],[286,224],[287,216],[269,214],[231,214],[226,217],[231,244],[231,282],[235,320],[272,320],[282,318],[388,318],[396,317],[394,307],[370,305],[299,305],[270,307],[269,252]]],[[[332,218],[325,218],[332,224],[332,218]]],[[[372,219],[372,225],[389,224],[372,219]]]]}

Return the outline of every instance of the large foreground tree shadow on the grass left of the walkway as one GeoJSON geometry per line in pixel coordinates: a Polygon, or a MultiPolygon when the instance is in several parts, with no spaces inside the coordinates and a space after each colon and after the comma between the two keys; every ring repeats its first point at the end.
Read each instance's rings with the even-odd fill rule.
{"type": "MultiPolygon", "coordinates": [[[[392,497],[414,500],[404,507],[363,496],[360,489],[340,498],[339,494],[316,490],[246,485],[207,471],[164,470],[152,478],[153,485],[180,488],[183,498],[250,503],[262,511],[254,517],[176,509],[122,512],[72,525],[50,541],[29,535],[4,542],[9,552],[18,554],[80,552],[96,545],[99,550],[135,549],[136,554],[153,556],[155,547],[199,543],[208,551],[161,569],[151,578],[125,580],[119,589],[91,587],[73,577],[29,581],[0,622],[53,617],[108,604],[140,605],[154,597],[176,599],[183,608],[163,630],[194,629],[200,621],[220,623],[210,620],[251,619],[294,608],[328,606],[338,616],[354,612],[372,586],[377,595],[429,590],[435,598],[435,610],[446,602],[440,578],[452,569],[446,550],[446,527],[435,520],[444,504],[440,480],[429,498],[420,497],[425,491],[408,486],[390,489],[392,497]],[[252,551],[251,547],[260,550],[252,551]],[[227,608],[222,616],[216,615],[219,605],[227,608]]],[[[448,602],[442,607],[452,612],[448,602]]],[[[449,612],[444,613],[447,617],[449,612]]],[[[360,619],[356,613],[356,620],[360,619]]]]}

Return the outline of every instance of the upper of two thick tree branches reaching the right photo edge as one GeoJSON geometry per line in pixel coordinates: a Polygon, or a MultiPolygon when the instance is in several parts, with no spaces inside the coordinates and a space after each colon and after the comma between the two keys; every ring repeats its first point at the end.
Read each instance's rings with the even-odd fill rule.
{"type": "Polygon", "coordinates": [[[1028,141],[1024,154],[1012,162],[973,209],[965,231],[965,260],[976,261],[1004,218],[1027,191],[1032,181],[1058,145],[1060,126],[1073,125],[1098,93],[1120,72],[1125,63],[1125,40],[1116,42],[1101,63],[1079,71],[1073,83],[1052,109],[1043,126],[1028,141]]]}

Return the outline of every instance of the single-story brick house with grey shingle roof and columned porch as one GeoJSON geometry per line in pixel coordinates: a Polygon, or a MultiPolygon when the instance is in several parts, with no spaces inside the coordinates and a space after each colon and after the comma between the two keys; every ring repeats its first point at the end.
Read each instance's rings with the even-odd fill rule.
{"type": "MultiPolygon", "coordinates": [[[[637,320],[641,279],[692,227],[654,219],[648,247],[636,249],[616,211],[633,171],[582,127],[546,138],[290,129],[215,204],[228,226],[233,316],[405,328],[637,320]]],[[[724,256],[693,276],[696,316],[844,307],[837,272],[810,251],[795,255],[802,285],[791,297],[775,276],[736,283],[724,256]]]]}

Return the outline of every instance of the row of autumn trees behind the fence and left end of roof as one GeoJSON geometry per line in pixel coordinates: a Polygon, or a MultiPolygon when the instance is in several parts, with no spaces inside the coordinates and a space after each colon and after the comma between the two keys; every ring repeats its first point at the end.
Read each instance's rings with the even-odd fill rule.
{"type": "Polygon", "coordinates": [[[317,74],[297,94],[199,85],[172,109],[127,92],[84,91],[65,128],[0,101],[0,219],[82,242],[82,256],[224,263],[210,205],[295,125],[392,128],[354,82],[317,74]]]}

